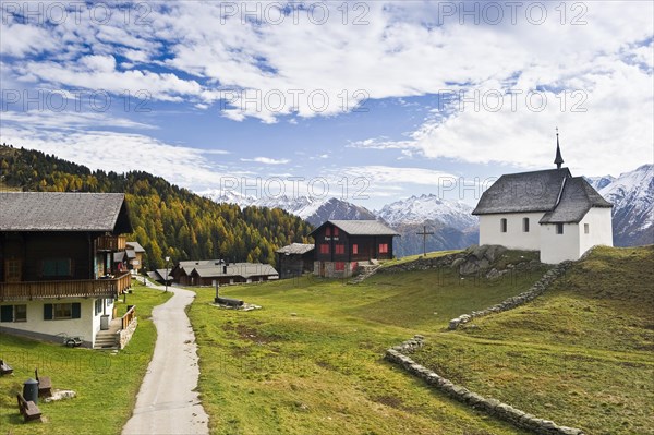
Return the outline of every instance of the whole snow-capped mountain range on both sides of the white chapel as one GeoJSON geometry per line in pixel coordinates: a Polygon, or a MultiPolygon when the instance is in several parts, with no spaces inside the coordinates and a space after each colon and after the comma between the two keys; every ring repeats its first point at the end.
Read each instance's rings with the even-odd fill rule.
{"type": "MultiPolygon", "coordinates": [[[[614,204],[614,244],[631,246],[654,243],[654,178],[653,165],[643,165],[619,177],[591,177],[586,180],[607,201],[614,204]]],[[[310,196],[256,198],[229,192],[202,192],[218,203],[232,203],[241,207],[259,206],[282,208],[318,226],[328,219],[377,219],[398,231],[400,238],[393,242],[398,256],[419,254],[423,251],[423,232],[433,232],[426,238],[427,251],[462,249],[479,242],[479,220],[472,216],[470,205],[443,200],[434,194],[411,196],[387,204],[379,210],[347,201],[316,198],[310,196]]]]}

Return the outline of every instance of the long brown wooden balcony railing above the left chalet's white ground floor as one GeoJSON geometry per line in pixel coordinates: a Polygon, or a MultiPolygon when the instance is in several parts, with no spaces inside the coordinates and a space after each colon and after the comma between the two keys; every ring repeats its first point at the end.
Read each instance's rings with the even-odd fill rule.
{"type": "Polygon", "coordinates": [[[111,279],[0,282],[0,301],[57,298],[117,298],[132,285],[129,273],[111,279]]]}

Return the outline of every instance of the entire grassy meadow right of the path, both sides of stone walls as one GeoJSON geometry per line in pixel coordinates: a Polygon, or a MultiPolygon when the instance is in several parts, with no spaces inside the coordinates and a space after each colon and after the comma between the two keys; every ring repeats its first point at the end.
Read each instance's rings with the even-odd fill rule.
{"type": "Polygon", "coordinates": [[[211,306],[214,290],[199,289],[190,317],[211,433],[523,433],[383,360],[423,334],[414,358],[476,392],[588,434],[652,434],[652,247],[597,249],[533,303],[458,331],[446,330],[450,318],[526,290],[546,268],[496,281],[425,270],[221,289],[263,306],[252,312],[211,306]]]}

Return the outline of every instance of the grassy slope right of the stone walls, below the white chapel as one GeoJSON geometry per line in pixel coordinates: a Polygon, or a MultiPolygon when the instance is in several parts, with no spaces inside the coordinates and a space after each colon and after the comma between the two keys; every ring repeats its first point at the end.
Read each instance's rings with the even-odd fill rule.
{"type": "Polygon", "coordinates": [[[654,434],[654,247],[596,249],[543,297],[428,336],[414,358],[588,434],[654,434]]]}

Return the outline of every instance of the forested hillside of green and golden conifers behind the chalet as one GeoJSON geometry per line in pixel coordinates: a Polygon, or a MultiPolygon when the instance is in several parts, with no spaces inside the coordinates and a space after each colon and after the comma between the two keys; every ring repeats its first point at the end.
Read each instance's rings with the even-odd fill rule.
{"type": "Polygon", "coordinates": [[[286,244],[311,243],[312,227],[279,208],[217,204],[143,171],[92,171],[41,152],[0,146],[0,188],[24,192],[125,193],[134,232],[146,251],[144,266],[172,261],[229,258],[275,264],[286,244]]]}

